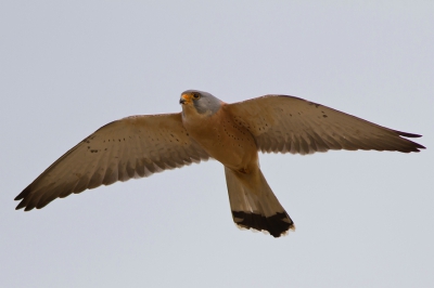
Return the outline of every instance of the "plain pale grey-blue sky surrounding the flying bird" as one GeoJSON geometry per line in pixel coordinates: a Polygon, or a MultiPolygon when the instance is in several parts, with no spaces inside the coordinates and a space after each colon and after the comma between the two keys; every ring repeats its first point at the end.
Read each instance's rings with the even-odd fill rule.
{"type": "Polygon", "coordinates": [[[433,1],[68,2],[0,3],[1,287],[434,287],[433,1]],[[217,161],[14,210],[84,138],[187,89],[295,95],[427,149],[260,155],[297,227],[278,239],[237,228],[217,161]]]}

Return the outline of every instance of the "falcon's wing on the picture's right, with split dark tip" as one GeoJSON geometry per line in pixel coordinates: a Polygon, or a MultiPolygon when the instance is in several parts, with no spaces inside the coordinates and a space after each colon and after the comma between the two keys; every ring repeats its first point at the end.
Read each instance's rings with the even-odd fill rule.
{"type": "Polygon", "coordinates": [[[419,152],[419,138],[355,116],[285,95],[227,104],[233,120],[247,128],[261,152],[311,154],[329,149],[419,152]],[[403,138],[405,136],[405,138],[403,138]]]}

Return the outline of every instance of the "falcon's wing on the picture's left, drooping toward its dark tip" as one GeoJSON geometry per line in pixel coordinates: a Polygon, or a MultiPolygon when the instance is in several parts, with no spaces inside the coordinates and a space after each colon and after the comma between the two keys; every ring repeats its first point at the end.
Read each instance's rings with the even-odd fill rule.
{"type": "Polygon", "coordinates": [[[183,128],[181,114],[127,117],[103,126],[65,153],[16,196],[16,209],[42,208],[72,193],[208,158],[183,128]]]}

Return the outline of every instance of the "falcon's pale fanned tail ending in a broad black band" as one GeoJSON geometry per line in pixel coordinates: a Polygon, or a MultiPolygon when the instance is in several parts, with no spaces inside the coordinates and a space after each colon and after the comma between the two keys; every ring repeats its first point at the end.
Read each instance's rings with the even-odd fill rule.
{"type": "Polygon", "coordinates": [[[242,173],[225,167],[225,174],[232,218],[238,226],[268,231],[275,237],[295,230],[259,168],[242,173]]]}

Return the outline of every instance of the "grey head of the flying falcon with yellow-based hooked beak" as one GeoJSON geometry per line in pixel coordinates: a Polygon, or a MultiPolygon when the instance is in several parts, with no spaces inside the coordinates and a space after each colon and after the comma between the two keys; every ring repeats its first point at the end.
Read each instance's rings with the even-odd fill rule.
{"type": "Polygon", "coordinates": [[[224,102],[212,94],[199,90],[182,92],[179,103],[182,105],[183,110],[194,108],[201,115],[214,115],[224,104],[224,102]]]}

